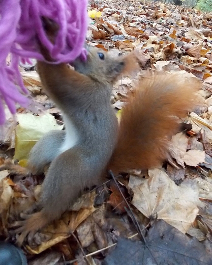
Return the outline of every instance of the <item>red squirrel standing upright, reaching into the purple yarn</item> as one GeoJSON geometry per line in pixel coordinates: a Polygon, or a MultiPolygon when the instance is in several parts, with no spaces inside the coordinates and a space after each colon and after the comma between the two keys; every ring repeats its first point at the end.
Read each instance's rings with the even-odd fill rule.
{"type": "MultiPolygon", "coordinates": [[[[51,61],[42,46],[41,51],[51,61]]],[[[113,84],[137,64],[136,58],[112,57],[91,46],[87,51],[85,62],[73,63],[75,70],[65,63],[38,62],[42,84],[62,111],[66,129],[50,131],[29,155],[33,173],[50,166],[40,210],[23,221],[19,232],[35,232],[58,219],[85,187],[102,184],[107,170],[117,174],[160,166],[178,118],[195,105],[198,82],[179,80],[178,74],[155,75],[139,82],[118,124],[110,102],[113,84]]]]}

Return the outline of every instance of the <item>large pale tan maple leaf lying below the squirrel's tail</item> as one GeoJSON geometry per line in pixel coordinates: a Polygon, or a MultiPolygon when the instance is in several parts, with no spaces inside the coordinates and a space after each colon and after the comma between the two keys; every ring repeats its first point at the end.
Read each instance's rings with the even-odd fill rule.
{"type": "Polygon", "coordinates": [[[130,177],[129,187],[134,193],[132,204],[144,216],[163,219],[186,233],[198,213],[197,182],[187,180],[177,186],[159,169],[150,170],[149,176],[144,182],[138,177],[130,177]]]}

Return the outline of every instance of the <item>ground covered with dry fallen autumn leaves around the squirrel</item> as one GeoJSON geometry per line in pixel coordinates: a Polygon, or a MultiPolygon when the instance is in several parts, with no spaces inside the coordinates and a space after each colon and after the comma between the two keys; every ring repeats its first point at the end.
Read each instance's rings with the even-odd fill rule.
{"type": "MultiPolygon", "coordinates": [[[[146,70],[196,78],[204,105],[187,117],[192,129],[173,137],[163,168],[126,172],[86,192],[60,220],[27,237],[28,262],[212,264],[212,14],[136,0],[90,1],[88,9],[88,44],[117,54],[134,50],[140,63],[139,73],[114,86],[116,111],[146,70]]],[[[0,131],[0,235],[14,243],[13,225],[33,210],[45,175],[28,173],[27,153],[46,131],[63,129],[34,67],[20,71],[31,109],[19,108],[16,120],[7,112],[0,131]]]]}

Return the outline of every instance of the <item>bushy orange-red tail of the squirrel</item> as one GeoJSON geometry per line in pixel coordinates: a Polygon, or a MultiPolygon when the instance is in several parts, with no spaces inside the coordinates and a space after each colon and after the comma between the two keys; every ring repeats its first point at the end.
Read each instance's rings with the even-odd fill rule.
{"type": "Polygon", "coordinates": [[[160,166],[168,157],[169,140],[179,129],[178,118],[197,104],[198,89],[197,78],[182,78],[179,73],[156,74],[140,81],[122,110],[108,170],[117,174],[160,166]]]}

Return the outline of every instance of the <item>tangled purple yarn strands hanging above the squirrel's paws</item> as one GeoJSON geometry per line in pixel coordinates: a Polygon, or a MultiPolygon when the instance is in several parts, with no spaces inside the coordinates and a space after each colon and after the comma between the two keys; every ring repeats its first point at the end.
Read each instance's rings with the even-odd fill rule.
{"type": "Polygon", "coordinates": [[[0,1],[0,124],[5,122],[4,102],[12,114],[16,113],[16,103],[23,107],[28,104],[18,65],[20,60],[30,58],[44,60],[36,38],[47,47],[56,63],[68,63],[78,56],[86,59],[83,48],[86,30],[87,0],[0,1]],[[59,25],[54,44],[45,35],[42,16],[59,25]]]}

